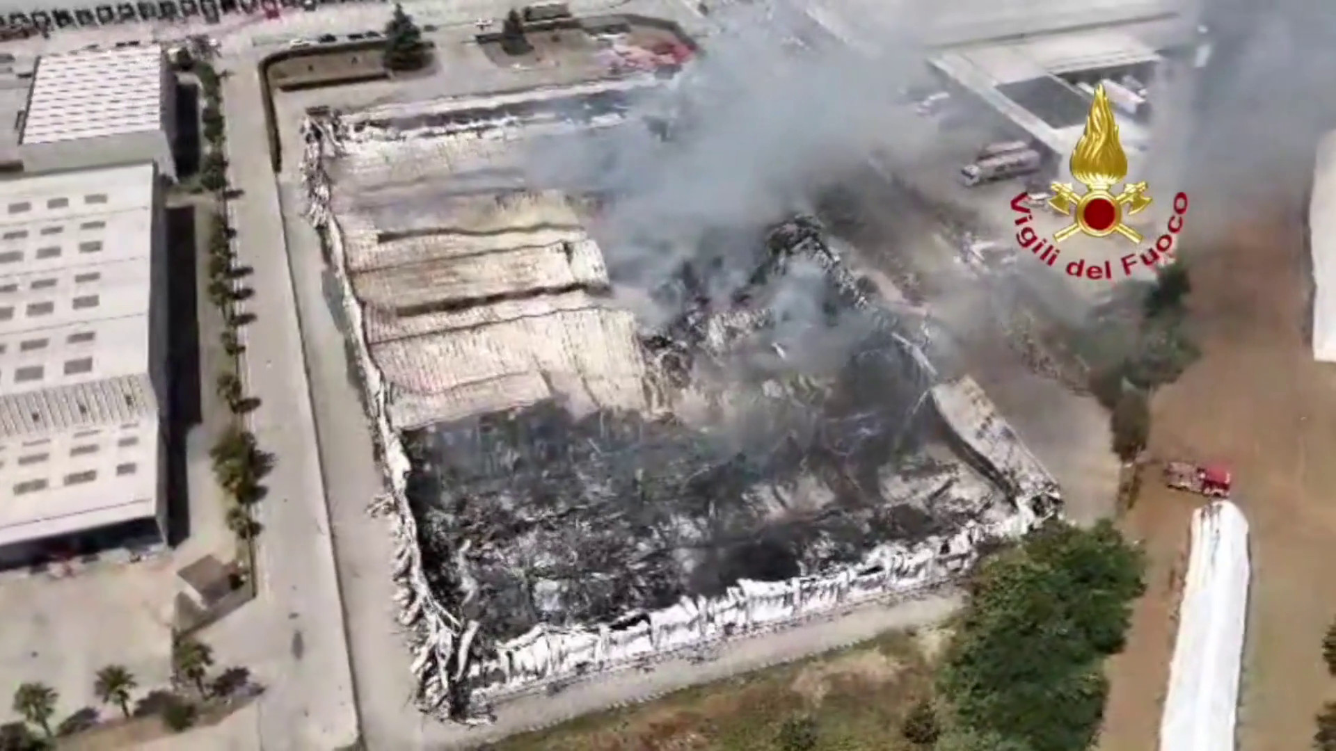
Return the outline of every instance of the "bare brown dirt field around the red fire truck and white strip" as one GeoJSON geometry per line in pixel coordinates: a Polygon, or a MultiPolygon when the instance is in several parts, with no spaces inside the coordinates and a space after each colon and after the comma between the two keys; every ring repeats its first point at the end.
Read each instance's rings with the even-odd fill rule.
{"type": "MultiPolygon", "coordinates": [[[[1280,186],[1277,186],[1280,187],[1280,186]]],[[[1240,707],[1242,751],[1307,748],[1313,715],[1332,694],[1321,636],[1336,612],[1328,576],[1336,547],[1336,369],[1312,361],[1304,330],[1307,253],[1300,191],[1244,216],[1217,238],[1194,238],[1192,322],[1204,357],[1156,396],[1157,458],[1224,461],[1250,525],[1253,581],[1240,707]]],[[[1174,639],[1188,522],[1204,500],[1146,477],[1125,518],[1150,559],[1128,649],[1113,679],[1104,751],[1157,746],[1174,639]]]]}

